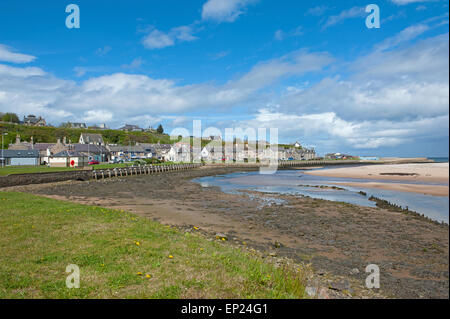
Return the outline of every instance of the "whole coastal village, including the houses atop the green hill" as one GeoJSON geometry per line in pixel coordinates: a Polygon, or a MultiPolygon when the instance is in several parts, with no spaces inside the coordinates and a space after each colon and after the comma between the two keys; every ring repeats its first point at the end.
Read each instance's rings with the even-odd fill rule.
{"type": "MultiPolygon", "coordinates": [[[[24,117],[19,124],[47,126],[45,119],[34,115],[24,117]]],[[[101,133],[102,130],[109,129],[105,124],[88,127],[85,123],[68,122],[61,126],[80,130],[89,128],[98,133],[82,132],[77,141],[72,141],[67,137],[55,138],[54,143],[38,143],[34,141],[33,136],[29,140],[22,140],[20,134],[17,134],[15,141],[10,143],[7,149],[3,150],[4,147],[2,147],[2,164],[5,166],[84,167],[99,163],[251,163],[272,159],[279,161],[312,160],[317,157],[314,148],[303,147],[299,142],[290,145],[270,145],[266,141],[235,139],[233,142],[226,142],[220,136],[207,136],[201,138],[202,146],[197,148],[192,145],[193,137],[181,138],[173,144],[164,144],[158,141],[157,143],[135,142],[120,145],[105,141],[101,133]]],[[[125,124],[118,130],[157,132],[153,128],[144,130],[137,125],[130,124],[125,124]]]]}

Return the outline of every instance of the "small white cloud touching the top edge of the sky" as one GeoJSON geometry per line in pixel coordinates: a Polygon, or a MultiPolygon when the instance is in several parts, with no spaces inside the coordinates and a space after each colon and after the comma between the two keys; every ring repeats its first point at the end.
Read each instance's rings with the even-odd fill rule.
{"type": "Polygon", "coordinates": [[[254,0],[208,0],[202,8],[203,20],[233,22],[254,0]]]}

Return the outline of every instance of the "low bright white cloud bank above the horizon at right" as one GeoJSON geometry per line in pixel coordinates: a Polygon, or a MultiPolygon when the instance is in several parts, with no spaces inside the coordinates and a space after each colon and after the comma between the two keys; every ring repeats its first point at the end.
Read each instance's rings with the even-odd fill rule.
{"type": "Polygon", "coordinates": [[[407,121],[362,120],[348,121],[334,112],[305,115],[260,109],[250,121],[235,123],[237,127],[278,128],[290,140],[322,140],[322,147],[348,146],[354,149],[395,147],[417,138],[447,137],[448,114],[407,121]],[[425,133],[426,132],[426,133],[425,133]]]}

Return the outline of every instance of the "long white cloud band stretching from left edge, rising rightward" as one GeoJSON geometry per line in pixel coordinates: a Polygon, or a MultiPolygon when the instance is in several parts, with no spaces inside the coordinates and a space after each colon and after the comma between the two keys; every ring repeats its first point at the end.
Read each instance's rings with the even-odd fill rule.
{"type": "Polygon", "coordinates": [[[6,96],[3,100],[9,99],[9,103],[0,101],[0,107],[23,114],[39,113],[58,122],[91,119],[97,113],[86,112],[92,110],[107,110],[113,115],[111,122],[193,110],[225,111],[239,103],[256,103],[260,99],[259,92],[267,86],[284,77],[321,70],[331,61],[326,53],[298,51],[259,63],[236,80],[219,86],[210,83],[181,86],[170,79],[124,73],[92,77],[76,84],[40,69],[11,71],[11,67],[5,66],[0,69],[0,94],[6,96]],[[34,75],[33,80],[24,78],[26,75],[34,75]],[[61,117],[54,110],[66,113],[60,113],[61,117]]]}

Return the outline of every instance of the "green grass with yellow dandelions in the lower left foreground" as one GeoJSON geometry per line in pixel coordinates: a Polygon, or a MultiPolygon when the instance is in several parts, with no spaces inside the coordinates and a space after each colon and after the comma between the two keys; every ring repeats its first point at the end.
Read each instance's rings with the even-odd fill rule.
{"type": "Polygon", "coordinates": [[[125,211],[0,192],[0,229],[0,298],[304,296],[301,269],[125,211]]]}

